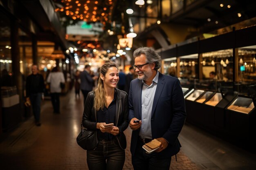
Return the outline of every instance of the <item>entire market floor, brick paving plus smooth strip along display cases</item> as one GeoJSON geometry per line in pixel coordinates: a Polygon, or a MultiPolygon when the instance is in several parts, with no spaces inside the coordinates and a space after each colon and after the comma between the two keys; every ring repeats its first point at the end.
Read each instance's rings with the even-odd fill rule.
{"type": "MultiPolygon", "coordinates": [[[[88,170],[86,151],[76,144],[83,113],[83,98],[74,92],[61,96],[61,114],[54,114],[49,99],[42,104],[42,126],[31,117],[0,138],[0,170],[88,170]]],[[[127,138],[124,170],[133,170],[131,130],[127,138]]],[[[185,125],[181,151],[170,170],[256,170],[256,155],[221,142],[197,128],[185,125]],[[240,153],[240,154],[238,154],[240,153]]]]}

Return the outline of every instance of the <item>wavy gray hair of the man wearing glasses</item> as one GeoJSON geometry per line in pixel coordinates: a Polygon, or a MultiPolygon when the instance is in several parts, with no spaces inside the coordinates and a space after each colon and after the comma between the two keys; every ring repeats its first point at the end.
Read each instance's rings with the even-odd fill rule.
{"type": "Polygon", "coordinates": [[[161,58],[160,55],[158,55],[155,52],[155,50],[152,47],[140,47],[140,48],[136,49],[133,52],[133,57],[136,58],[136,57],[138,57],[141,54],[145,54],[146,55],[147,62],[149,62],[149,63],[155,62],[154,70],[158,70],[161,67],[161,65],[162,65],[162,63],[161,63],[162,58],[161,58]]]}

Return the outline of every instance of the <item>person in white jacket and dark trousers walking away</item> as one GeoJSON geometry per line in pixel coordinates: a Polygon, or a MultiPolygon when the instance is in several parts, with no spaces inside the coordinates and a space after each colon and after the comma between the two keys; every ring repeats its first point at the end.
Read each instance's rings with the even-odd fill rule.
{"type": "Polygon", "coordinates": [[[53,113],[60,113],[61,83],[65,83],[64,74],[57,67],[52,68],[52,72],[47,77],[47,83],[50,83],[53,113]]]}

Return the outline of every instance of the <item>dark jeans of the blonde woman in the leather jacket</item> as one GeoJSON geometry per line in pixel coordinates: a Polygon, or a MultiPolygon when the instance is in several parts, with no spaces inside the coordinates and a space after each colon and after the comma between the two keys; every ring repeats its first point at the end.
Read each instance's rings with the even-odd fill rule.
{"type": "Polygon", "coordinates": [[[95,150],[87,150],[89,170],[122,170],[125,151],[119,147],[116,139],[102,140],[95,150]]]}

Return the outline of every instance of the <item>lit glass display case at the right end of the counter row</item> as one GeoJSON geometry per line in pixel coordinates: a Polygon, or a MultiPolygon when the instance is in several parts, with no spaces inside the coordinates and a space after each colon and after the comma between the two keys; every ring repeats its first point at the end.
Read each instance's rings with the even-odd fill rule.
{"type": "Polygon", "coordinates": [[[252,99],[246,97],[237,97],[227,109],[240,113],[249,114],[254,109],[254,103],[252,99]]]}

